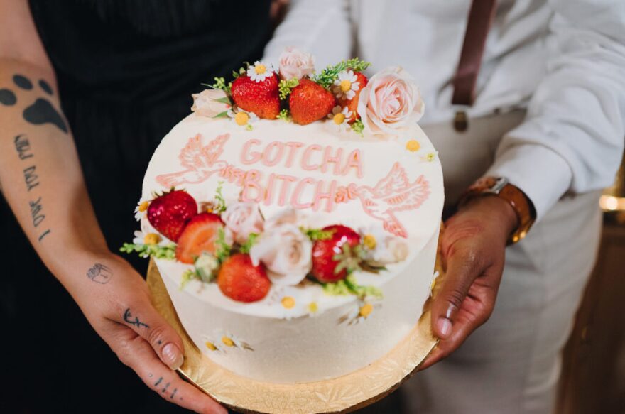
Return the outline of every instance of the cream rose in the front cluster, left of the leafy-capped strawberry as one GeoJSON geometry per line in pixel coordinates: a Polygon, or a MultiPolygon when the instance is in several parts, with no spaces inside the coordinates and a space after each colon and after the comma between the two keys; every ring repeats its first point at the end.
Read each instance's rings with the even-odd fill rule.
{"type": "Polygon", "coordinates": [[[292,223],[267,229],[249,251],[251,262],[263,262],[276,285],[297,285],[310,272],[312,241],[292,223]]]}

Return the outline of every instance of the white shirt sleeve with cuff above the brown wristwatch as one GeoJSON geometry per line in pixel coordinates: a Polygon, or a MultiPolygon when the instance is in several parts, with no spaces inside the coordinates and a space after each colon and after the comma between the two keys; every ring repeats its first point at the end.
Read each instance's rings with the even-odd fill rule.
{"type": "Polygon", "coordinates": [[[625,141],[625,2],[549,4],[547,75],[487,172],[521,188],[538,219],[566,192],[611,185],[625,141]]]}

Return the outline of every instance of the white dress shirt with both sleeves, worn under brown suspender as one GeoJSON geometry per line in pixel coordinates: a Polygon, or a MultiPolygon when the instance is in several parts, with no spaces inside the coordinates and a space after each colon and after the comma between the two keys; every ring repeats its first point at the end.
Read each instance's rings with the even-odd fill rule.
{"type": "MultiPolygon", "coordinates": [[[[359,56],[368,75],[401,65],[425,100],[420,124],[450,122],[469,0],[299,0],[267,45],[315,55],[317,70],[359,56]]],[[[538,219],[567,192],[611,185],[625,141],[625,1],[502,0],[471,117],[527,108],[487,175],[521,188],[538,219]]],[[[470,124],[470,121],[469,121],[470,124]]]]}

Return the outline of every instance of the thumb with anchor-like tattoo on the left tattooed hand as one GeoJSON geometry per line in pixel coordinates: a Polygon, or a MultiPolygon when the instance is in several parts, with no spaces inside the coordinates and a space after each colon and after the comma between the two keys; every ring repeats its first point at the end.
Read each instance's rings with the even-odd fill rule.
{"type": "Polygon", "coordinates": [[[156,311],[148,301],[121,310],[119,321],[145,339],[170,369],[178,369],[185,360],[183,340],[175,329],[156,311]]]}

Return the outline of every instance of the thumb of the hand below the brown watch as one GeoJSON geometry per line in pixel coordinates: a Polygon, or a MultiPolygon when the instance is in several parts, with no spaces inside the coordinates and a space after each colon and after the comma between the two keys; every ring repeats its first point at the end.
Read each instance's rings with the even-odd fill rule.
{"type": "Polygon", "coordinates": [[[440,339],[450,337],[455,315],[462,307],[473,281],[484,270],[482,267],[475,256],[462,249],[447,257],[447,273],[431,307],[432,327],[440,339]]]}

